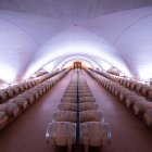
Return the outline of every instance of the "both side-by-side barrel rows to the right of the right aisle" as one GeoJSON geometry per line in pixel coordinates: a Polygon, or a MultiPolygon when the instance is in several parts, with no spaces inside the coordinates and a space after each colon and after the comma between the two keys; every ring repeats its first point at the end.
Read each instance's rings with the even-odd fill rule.
{"type": "Polygon", "coordinates": [[[127,109],[152,127],[152,88],[143,84],[113,76],[105,72],[86,69],[127,109]]]}

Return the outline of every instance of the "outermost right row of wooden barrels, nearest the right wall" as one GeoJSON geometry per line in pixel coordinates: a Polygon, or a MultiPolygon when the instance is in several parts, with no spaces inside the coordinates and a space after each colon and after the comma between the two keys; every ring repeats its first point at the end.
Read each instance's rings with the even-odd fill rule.
{"type": "Polygon", "coordinates": [[[101,71],[97,71],[97,69],[91,69],[102,76],[104,76],[105,78],[109,78],[115,83],[121,84],[122,86],[137,92],[138,94],[145,97],[148,100],[152,101],[152,87],[135,81],[135,80],[129,80],[127,78],[123,78],[123,77],[118,77],[118,76],[114,76],[112,74],[109,74],[106,72],[101,72],[101,71]]]}

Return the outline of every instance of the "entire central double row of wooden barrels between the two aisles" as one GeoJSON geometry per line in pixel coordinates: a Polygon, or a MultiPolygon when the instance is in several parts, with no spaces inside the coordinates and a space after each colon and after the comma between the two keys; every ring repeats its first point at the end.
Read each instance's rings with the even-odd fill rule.
{"type": "Polygon", "coordinates": [[[46,137],[53,147],[67,145],[68,151],[72,151],[73,145],[76,148],[83,145],[85,152],[88,152],[89,147],[102,147],[111,141],[109,124],[104,123],[102,113],[98,110],[98,104],[83,76],[80,71],[75,72],[58,105],[59,111],[53,114],[53,123],[48,125],[46,137]],[[56,135],[58,128],[50,131],[54,124],[64,127],[60,128],[63,130],[62,134],[56,135]],[[65,126],[71,126],[69,135],[65,126]],[[64,144],[58,143],[56,140],[62,137],[64,141],[66,140],[64,144]]]}

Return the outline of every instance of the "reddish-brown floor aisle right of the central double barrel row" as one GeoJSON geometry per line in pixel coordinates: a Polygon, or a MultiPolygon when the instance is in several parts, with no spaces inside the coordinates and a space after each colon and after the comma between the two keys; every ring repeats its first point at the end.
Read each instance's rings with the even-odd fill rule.
{"type": "Polygon", "coordinates": [[[112,143],[103,148],[103,152],[152,152],[152,129],[87,73],[84,74],[105,122],[111,125],[112,143]]]}

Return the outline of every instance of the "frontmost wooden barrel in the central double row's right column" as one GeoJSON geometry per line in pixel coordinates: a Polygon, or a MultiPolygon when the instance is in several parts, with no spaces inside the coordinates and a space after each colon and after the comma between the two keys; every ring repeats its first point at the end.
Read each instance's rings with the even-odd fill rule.
{"type": "Polygon", "coordinates": [[[89,147],[102,147],[111,143],[111,130],[107,123],[81,123],[79,128],[80,143],[85,145],[85,152],[89,147]]]}

